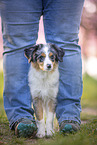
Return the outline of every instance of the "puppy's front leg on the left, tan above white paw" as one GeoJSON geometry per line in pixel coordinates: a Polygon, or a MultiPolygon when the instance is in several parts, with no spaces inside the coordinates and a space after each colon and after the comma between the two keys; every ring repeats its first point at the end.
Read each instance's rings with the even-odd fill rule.
{"type": "Polygon", "coordinates": [[[44,112],[43,112],[43,100],[41,98],[34,98],[33,106],[35,109],[36,119],[37,119],[37,127],[38,132],[36,136],[38,138],[43,138],[45,136],[45,120],[44,120],[44,112]]]}

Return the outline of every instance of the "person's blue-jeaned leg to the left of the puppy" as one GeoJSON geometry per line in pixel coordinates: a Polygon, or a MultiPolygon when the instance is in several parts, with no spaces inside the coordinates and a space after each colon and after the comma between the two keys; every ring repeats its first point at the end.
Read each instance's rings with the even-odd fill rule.
{"type": "Polygon", "coordinates": [[[2,0],[4,108],[10,128],[21,118],[34,120],[24,49],[36,43],[41,0],[2,0]]]}

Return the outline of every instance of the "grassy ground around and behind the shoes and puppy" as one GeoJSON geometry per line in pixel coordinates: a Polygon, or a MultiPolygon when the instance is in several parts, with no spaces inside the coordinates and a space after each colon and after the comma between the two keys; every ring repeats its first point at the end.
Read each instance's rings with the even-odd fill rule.
{"type": "MultiPolygon", "coordinates": [[[[3,73],[0,72],[0,145],[96,145],[97,144],[97,81],[88,75],[83,77],[81,130],[74,134],[56,132],[49,139],[17,138],[9,129],[3,107],[3,73]]],[[[57,123],[55,122],[55,126],[57,123]]]]}

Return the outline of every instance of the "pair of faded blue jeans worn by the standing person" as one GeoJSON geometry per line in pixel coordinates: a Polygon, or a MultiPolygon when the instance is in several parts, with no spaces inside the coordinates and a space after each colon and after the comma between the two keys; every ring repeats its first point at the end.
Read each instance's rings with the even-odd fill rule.
{"type": "MultiPolygon", "coordinates": [[[[59,63],[56,116],[80,124],[82,95],[81,48],[78,33],[84,0],[2,0],[4,46],[4,108],[10,128],[20,118],[33,120],[28,87],[29,63],[24,49],[36,43],[43,15],[45,38],[65,50],[59,63]]],[[[34,77],[34,76],[33,76],[34,77]]]]}

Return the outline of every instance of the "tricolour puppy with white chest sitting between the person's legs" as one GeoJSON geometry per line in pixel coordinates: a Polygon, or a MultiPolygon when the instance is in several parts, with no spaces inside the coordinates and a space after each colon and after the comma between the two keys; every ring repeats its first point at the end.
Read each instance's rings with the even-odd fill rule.
{"type": "Polygon", "coordinates": [[[31,62],[28,82],[38,127],[36,135],[51,136],[59,86],[58,61],[63,61],[64,51],[55,44],[38,44],[25,49],[25,56],[31,62]]]}

